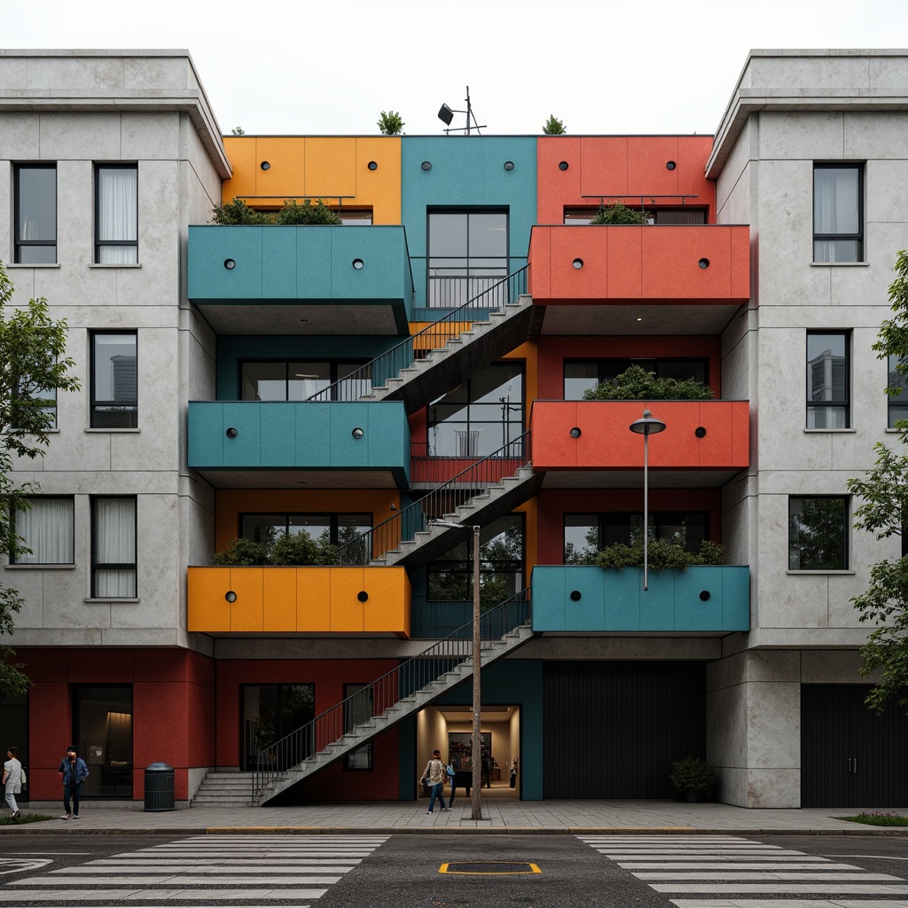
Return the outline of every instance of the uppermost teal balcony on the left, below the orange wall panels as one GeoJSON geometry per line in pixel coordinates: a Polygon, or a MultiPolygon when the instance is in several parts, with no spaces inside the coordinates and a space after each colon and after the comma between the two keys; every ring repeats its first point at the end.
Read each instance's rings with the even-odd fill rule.
{"type": "Polygon", "coordinates": [[[218,334],[406,336],[403,227],[189,228],[189,298],[218,334]]]}

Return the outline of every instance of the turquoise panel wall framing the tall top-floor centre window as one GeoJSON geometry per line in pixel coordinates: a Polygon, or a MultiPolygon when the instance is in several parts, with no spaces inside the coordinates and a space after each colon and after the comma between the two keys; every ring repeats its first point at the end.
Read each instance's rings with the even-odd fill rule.
{"type": "Polygon", "coordinates": [[[527,263],[536,222],[534,136],[409,136],[400,140],[400,220],[407,225],[416,305],[426,305],[427,217],[432,209],[508,209],[509,271],[527,263]],[[431,163],[423,170],[422,163],[431,163]],[[506,171],[506,161],[514,169],[506,171]]]}

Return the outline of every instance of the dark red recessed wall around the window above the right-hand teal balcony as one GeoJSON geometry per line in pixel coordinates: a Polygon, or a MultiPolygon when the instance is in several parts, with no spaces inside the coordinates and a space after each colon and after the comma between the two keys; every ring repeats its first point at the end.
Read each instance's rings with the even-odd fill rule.
{"type": "MultiPolygon", "coordinates": [[[[541,489],[538,494],[538,564],[564,563],[565,514],[598,514],[608,511],[640,513],[642,489],[541,489]]],[[[720,533],[719,489],[649,489],[649,509],[655,511],[707,511],[709,537],[720,533]]]]}

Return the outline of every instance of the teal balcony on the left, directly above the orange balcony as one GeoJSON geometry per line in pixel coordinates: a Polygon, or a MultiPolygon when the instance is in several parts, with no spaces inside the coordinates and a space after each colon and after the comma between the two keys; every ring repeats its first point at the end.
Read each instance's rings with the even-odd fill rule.
{"type": "Polygon", "coordinates": [[[406,489],[400,401],[190,401],[189,466],[222,489],[406,489]]]}

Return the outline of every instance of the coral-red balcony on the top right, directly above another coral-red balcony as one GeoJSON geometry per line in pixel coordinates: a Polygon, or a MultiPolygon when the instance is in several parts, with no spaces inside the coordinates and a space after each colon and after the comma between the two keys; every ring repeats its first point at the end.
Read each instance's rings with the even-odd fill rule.
{"type": "Polygon", "coordinates": [[[543,334],[716,334],[750,297],[747,226],[537,226],[529,261],[543,334]]]}

